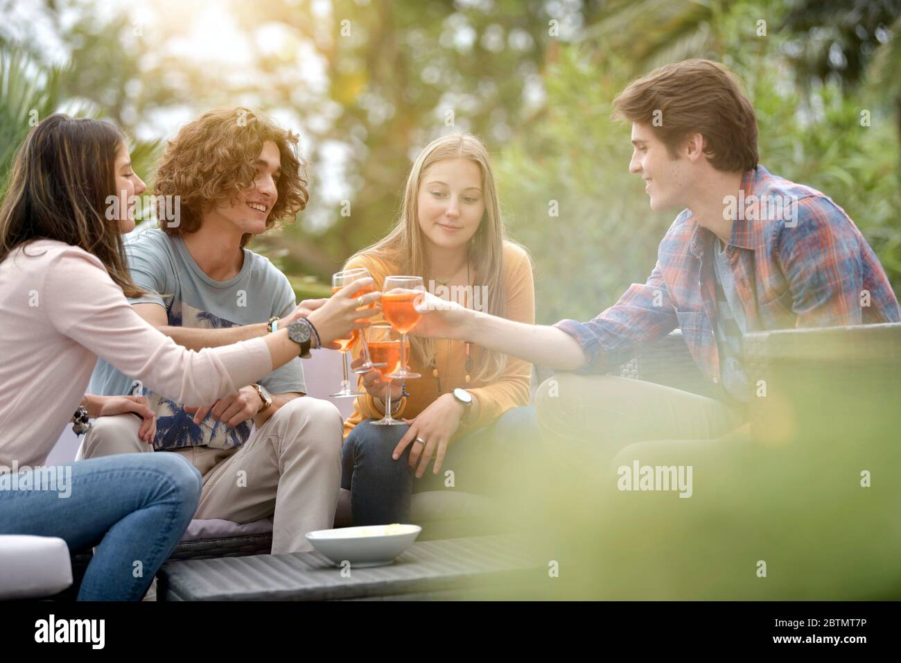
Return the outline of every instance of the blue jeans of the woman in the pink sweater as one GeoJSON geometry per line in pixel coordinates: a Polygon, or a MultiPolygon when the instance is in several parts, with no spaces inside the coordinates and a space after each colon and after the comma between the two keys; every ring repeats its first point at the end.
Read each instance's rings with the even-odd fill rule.
{"type": "MultiPolygon", "coordinates": [[[[96,546],[78,601],[140,601],[185,533],[200,500],[200,473],[177,454],[123,454],[71,465],[68,497],[0,490],[0,534],[96,546]],[[140,562],[140,564],[136,564],[140,562]]],[[[33,469],[19,474],[35,474],[33,469]]]]}

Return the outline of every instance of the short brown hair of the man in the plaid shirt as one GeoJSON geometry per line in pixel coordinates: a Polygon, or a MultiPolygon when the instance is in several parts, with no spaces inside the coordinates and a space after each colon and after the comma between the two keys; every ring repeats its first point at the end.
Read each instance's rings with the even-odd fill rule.
{"type": "Polygon", "coordinates": [[[754,108],[741,80],[719,62],[684,60],[633,80],[614,99],[614,119],[648,124],[673,158],[688,134],[701,134],[716,170],[757,166],[754,108]]]}

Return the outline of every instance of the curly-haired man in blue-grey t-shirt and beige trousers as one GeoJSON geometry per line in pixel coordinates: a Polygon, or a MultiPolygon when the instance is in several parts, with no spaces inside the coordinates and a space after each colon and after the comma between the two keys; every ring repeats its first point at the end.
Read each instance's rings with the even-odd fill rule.
{"type": "MultiPolygon", "coordinates": [[[[168,209],[180,215],[160,215],[159,229],[126,244],[132,279],[151,292],[131,300],[142,318],[199,350],[263,336],[273,318],[276,328],[286,327],[323,304],[296,306],[285,275],[244,248],[305,207],[296,145],[294,134],[246,108],[205,113],[168,143],[155,194],[160,205],[178,197],[168,209]]],[[[89,391],[123,395],[134,386],[101,361],[89,391]]],[[[307,550],[305,533],[331,528],[334,520],[341,416],[330,402],[301,398],[305,391],[298,358],[199,409],[150,394],[157,412],[152,446],[138,438],[140,421],[125,414],[97,419],[79,456],[152,450],[185,456],[203,474],[196,518],[246,523],[274,515],[272,552],[307,550]]]]}

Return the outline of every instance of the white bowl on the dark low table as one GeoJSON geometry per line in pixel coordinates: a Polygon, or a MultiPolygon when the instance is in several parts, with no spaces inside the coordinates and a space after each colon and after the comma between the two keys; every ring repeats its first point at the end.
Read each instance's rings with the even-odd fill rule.
{"type": "Polygon", "coordinates": [[[423,531],[419,525],[363,525],[319,529],[306,534],[313,547],[337,566],[385,566],[405,551],[423,531]]]}

